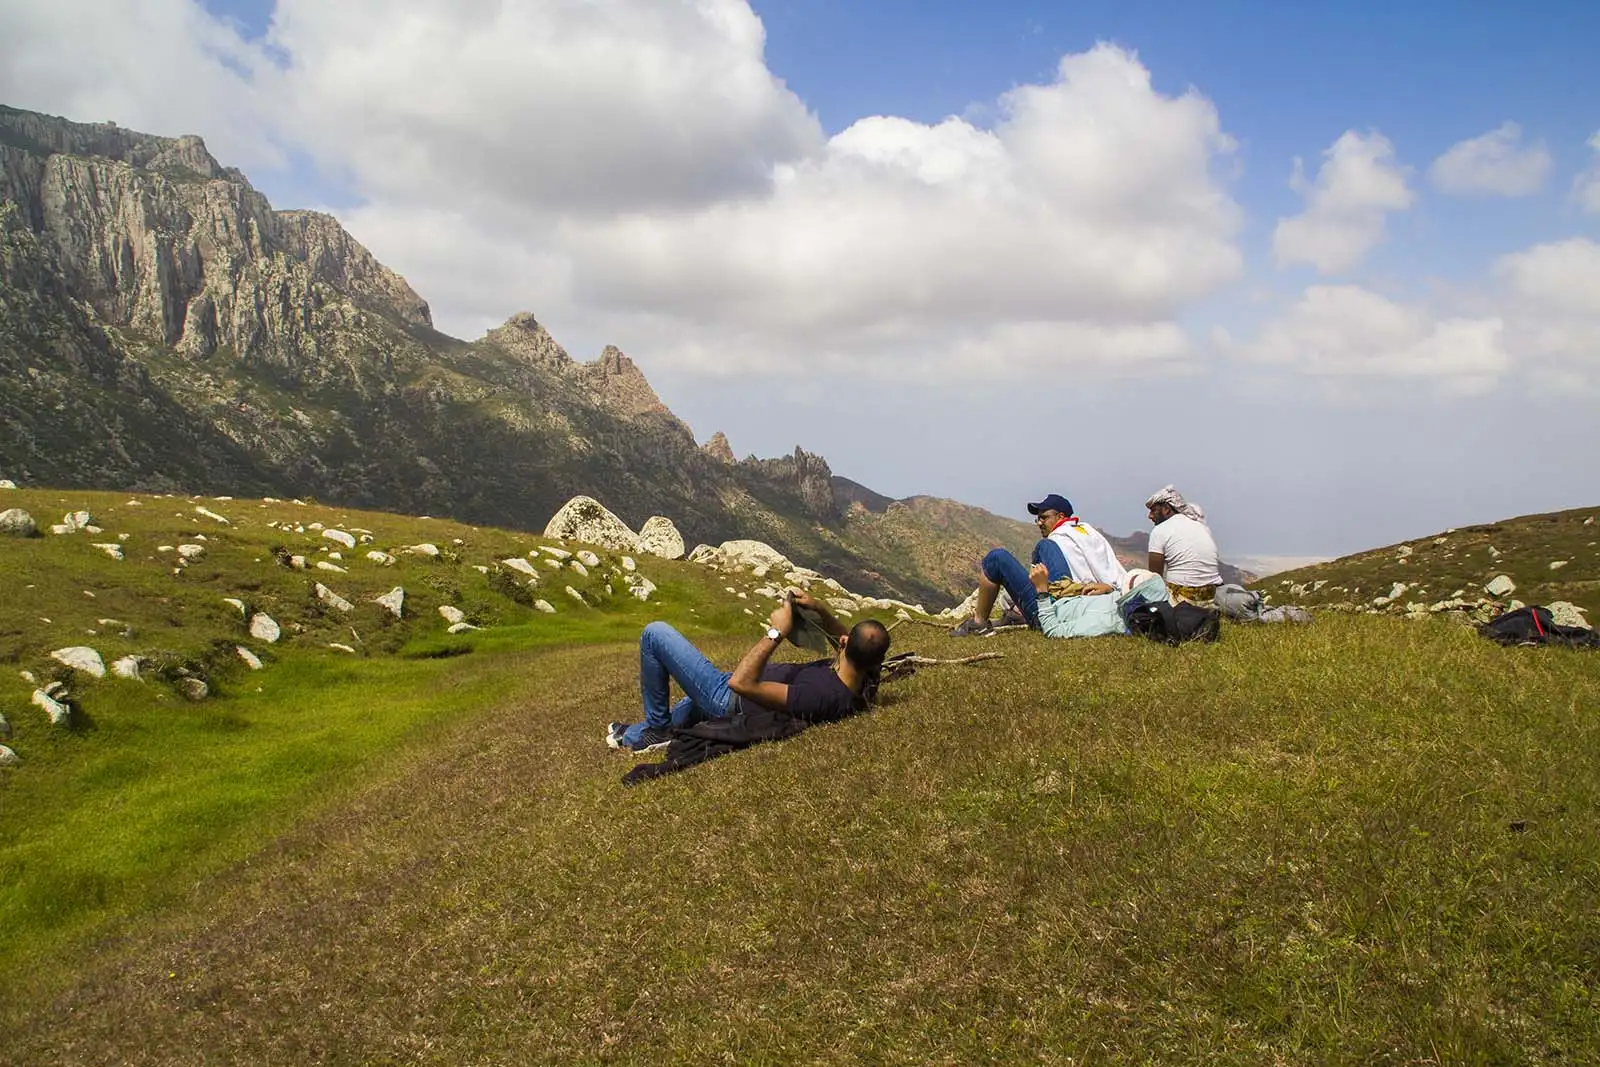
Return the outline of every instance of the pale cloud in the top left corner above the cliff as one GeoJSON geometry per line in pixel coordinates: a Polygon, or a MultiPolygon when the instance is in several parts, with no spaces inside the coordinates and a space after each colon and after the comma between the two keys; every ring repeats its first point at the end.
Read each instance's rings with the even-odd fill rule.
{"type": "Polygon", "coordinates": [[[192,0],[0,3],[0,101],[146,133],[203,133],[234,166],[283,158],[248,82],[262,67],[259,50],[192,0]]]}

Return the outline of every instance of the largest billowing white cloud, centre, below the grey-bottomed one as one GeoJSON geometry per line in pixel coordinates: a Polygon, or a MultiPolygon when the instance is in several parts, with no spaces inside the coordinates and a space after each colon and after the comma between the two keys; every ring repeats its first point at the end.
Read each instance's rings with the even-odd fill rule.
{"type": "MultiPolygon", "coordinates": [[[[426,242],[406,234],[427,216],[386,194],[347,219],[446,328],[534,304],[650,363],[1006,374],[1187,358],[1174,318],[1242,269],[1238,208],[1211,176],[1234,147],[1214,107],[1155,93],[1133,54],[1099,46],[995,110],[992,128],[864,118],[774,163],[765,189],[701,205],[467,200],[426,242]],[[464,272],[475,256],[491,267],[464,272]],[[470,307],[448,298],[466,278],[470,307]]],[[[648,171],[648,144],[616,150],[648,171]]]]}

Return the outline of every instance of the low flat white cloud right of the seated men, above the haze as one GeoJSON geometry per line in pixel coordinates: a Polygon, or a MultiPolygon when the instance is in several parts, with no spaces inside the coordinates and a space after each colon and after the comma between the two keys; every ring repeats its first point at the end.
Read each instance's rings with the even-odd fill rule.
{"type": "Polygon", "coordinates": [[[1429,381],[1453,394],[1490,389],[1509,368],[1504,323],[1435,318],[1355,285],[1314,285],[1240,358],[1331,381],[1429,381]]]}

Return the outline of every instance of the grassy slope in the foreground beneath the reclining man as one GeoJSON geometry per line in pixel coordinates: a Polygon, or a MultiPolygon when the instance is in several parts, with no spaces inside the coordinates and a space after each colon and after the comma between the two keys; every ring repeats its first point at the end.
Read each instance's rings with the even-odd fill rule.
{"type": "Polygon", "coordinates": [[[1341,614],[1181,649],[901,624],[1003,659],[624,790],[600,731],[637,627],[731,664],[744,576],[642,560],[656,601],[547,616],[474,569],[539,539],[349,514],[458,557],[336,574],[416,598],[349,654],[264,526],[339,514],[125,499],[88,501],[123,571],[0,542],[8,677],[134,587],[118,640],[214,662],[214,694],[75,683],[51,731],[3,689],[3,1062],[1600,1059],[1594,654],[1341,614]],[[195,531],[214,553],[171,574],[150,547],[195,531]],[[253,581],[288,640],[246,673],[205,613],[253,581]],[[29,617],[46,589],[66,622],[29,617]],[[443,635],[454,597],[491,627],[443,635]]]}

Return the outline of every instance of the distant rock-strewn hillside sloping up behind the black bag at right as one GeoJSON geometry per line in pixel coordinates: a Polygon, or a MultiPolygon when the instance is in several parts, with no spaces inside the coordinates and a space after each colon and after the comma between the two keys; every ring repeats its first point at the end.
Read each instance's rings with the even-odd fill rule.
{"type": "Polygon", "coordinates": [[[1600,507],[1520,515],[1482,526],[1443,530],[1328,563],[1274,574],[1264,589],[1278,603],[1342,605],[1402,614],[1408,605],[1486,598],[1506,574],[1517,589],[1499,603],[1568,601],[1600,621],[1600,507]],[[1387,601],[1395,584],[1405,590],[1387,601]]]}

